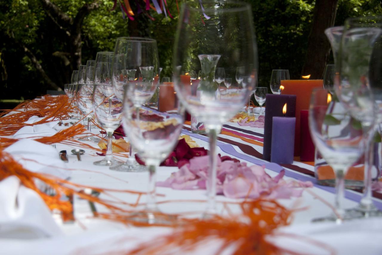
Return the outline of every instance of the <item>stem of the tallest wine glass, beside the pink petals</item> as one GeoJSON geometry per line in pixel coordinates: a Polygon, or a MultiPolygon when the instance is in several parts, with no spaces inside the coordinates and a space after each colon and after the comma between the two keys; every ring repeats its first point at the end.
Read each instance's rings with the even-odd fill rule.
{"type": "Polygon", "coordinates": [[[216,175],[217,175],[217,153],[216,142],[217,134],[220,132],[221,126],[207,125],[207,132],[209,134],[209,168],[207,178],[207,214],[216,214],[216,175]]]}

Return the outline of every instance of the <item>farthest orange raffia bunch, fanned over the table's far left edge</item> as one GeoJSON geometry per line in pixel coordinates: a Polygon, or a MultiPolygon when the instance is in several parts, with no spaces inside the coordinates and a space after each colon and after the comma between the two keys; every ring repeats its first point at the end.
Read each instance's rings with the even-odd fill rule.
{"type": "Polygon", "coordinates": [[[16,106],[16,110],[3,110],[0,118],[0,136],[11,136],[21,127],[48,123],[52,120],[68,119],[69,112],[73,110],[68,97],[60,95],[57,97],[46,96],[43,100],[31,100],[16,106]],[[52,107],[52,105],[54,106],[52,107]],[[24,108],[23,110],[17,110],[24,108]],[[5,116],[8,113],[11,113],[5,116]],[[33,124],[24,123],[31,116],[44,116],[44,119],[33,124]]]}

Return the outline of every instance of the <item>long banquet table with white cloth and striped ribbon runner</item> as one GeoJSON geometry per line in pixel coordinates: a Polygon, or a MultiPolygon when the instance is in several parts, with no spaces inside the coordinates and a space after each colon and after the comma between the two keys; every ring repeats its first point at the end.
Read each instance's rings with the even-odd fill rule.
{"type": "MultiPolygon", "coordinates": [[[[65,120],[64,123],[73,120],[65,120]]],[[[188,123],[189,124],[189,123],[188,123]]],[[[183,134],[191,136],[200,147],[208,149],[208,139],[200,134],[193,134],[189,131],[190,126],[184,125],[183,134]]],[[[54,129],[65,129],[64,125],[56,124],[54,129]]],[[[93,129],[94,134],[99,134],[99,129],[93,129]]],[[[247,162],[249,165],[265,165],[266,172],[270,176],[277,175],[280,170],[285,169],[285,179],[297,179],[302,181],[312,181],[313,188],[304,191],[299,198],[278,199],[287,208],[304,208],[294,213],[290,226],[281,228],[280,232],[297,235],[294,237],[272,237],[275,242],[282,247],[288,247],[298,253],[325,254],[328,250],[320,248],[320,245],[313,245],[312,240],[322,242],[332,247],[339,254],[382,254],[382,219],[362,219],[345,222],[337,225],[334,222],[312,223],[315,217],[325,216],[332,212],[332,209],[312,195],[324,199],[330,204],[334,201],[334,188],[320,186],[313,176],[314,167],[309,163],[293,162],[292,165],[277,165],[262,160],[262,139],[264,130],[262,128],[239,126],[236,123],[225,123],[223,133],[219,135],[218,153],[247,162]],[[304,238],[308,238],[307,241],[304,238]]],[[[128,140],[127,137],[125,137],[128,140]]],[[[97,144],[88,142],[97,147],[97,144]]],[[[49,145],[46,145],[49,146],[49,145]]],[[[79,148],[79,147],[78,147],[79,148]]],[[[55,144],[57,154],[61,150],[76,149],[76,146],[55,144]]],[[[69,155],[69,162],[65,167],[70,173],[70,181],[83,185],[96,186],[100,188],[128,189],[146,191],[147,172],[118,172],[109,170],[108,167],[95,166],[92,162],[99,160],[102,156],[97,156],[95,150],[86,150],[81,156],[82,161],[78,161],[75,155],[69,155]]],[[[127,155],[127,154],[126,154],[127,155]]],[[[121,160],[126,158],[121,157],[121,160]]],[[[159,167],[157,169],[157,180],[164,181],[172,172],[176,172],[176,167],[159,167]]],[[[199,200],[206,200],[205,190],[173,190],[171,188],[157,187],[157,200],[169,201],[173,203],[160,203],[159,208],[167,213],[179,212],[202,212],[206,203],[199,200]],[[187,202],[189,200],[189,202],[187,202]],[[193,200],[193,201],[190,201],[193,200]]],[[[113,193],[113,195],[123,201],[134,202],[136,196],[127,193],[113,193]]],[[[345,208],[356,206],[361,198],[361,193],[357,191],[346,191],[344,201],[345,208]]],[[[380,195],[380,194],[379,194],[380,195]]],[[[377,196],[379,196],[377,195],[377,196]]],[[[101,195],[102,196],[102,195],[101,195]]],[[[223,203],[225,201],[239,201],[240,199],[229,199],[224,196],[217,196],[219,212],[224,212],[223,203]]],[[[145,197],[141,198],[145,201],[145,197]]],[[[382,200],[374,198],[374,203],[382,209],[382,200]]],[[[0,205],[1,206],[1,205],[0,205]]],[[[96,205],[98,212],[106,212],[107,209],[96,205]]],[[[238,208],[231,206],[233,212],[238,212],[238,208]]],[[[62,234],[52,237],[21,239],[17,237],[1,237],[1,254],[99,254],[99,253],[122,253],[136,247],[141,242],[155,240],[156,237],[168,234],[172,229],[167,227],[134,227],[126,226],[119,222],[97,219],[92,217],[91,208],[87,201],[74,197],[74,216],[76,221],[72,224],[62,224],[58,221],[62,234]]],[[[0,225],[1,228],[1,225],[0,225]]],[[[214,242],[201,245],[200,248],[189,253],[210,254],[216,252],[214,242]]],[[[228,249],[225,253],[229,254],[228,249]]]]}

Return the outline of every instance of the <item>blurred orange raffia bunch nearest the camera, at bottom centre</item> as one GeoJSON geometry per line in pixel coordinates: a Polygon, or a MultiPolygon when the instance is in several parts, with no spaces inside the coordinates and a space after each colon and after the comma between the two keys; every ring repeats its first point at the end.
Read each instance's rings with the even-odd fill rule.
{"type": "Polygon", "coordinates": [[[162,254],[169,248],[192,251],[206,240],[222,240],[216,254],[230,245],[233,254],[277,254],[282,249],[269,242],[267,235],[280,226],[290,224],[292,211],[276,201],[262,198],[240,204],[241,215],[213,216],[211,219],[183,219],[175,231],[150,243],[141,244],[129,254],[162,254]]]}

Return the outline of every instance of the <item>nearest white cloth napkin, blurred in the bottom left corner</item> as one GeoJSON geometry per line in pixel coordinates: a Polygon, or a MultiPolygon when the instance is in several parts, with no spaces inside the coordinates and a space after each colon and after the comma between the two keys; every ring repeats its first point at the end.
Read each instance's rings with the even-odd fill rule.
{"type": "Polygon", "coordinates": [[[0,181],[0,238],[35,239],[63,235],[49,209],[16,176],[0,181]]]}

